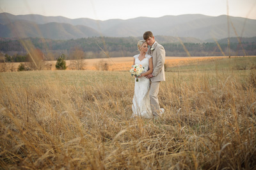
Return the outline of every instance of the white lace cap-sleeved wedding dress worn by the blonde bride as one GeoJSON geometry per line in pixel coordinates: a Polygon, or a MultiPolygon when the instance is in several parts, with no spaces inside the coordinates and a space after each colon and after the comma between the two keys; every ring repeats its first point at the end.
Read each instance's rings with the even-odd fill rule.
{"type": "MultiPolygon", "coordinates": [[[[144,67],[143,72],[148,71],[148,59],[152,56],[146,54],[146,58],[142,61],[139,59],[140,54],[134,56],[135,64],[144,67]]],[[[134,97],[132,99],[132,116],[141,116],[143,118],[152,118],[152,111],[149,100],[150,80],[146,77],[140,77],[134,86],[134,97]]]]}

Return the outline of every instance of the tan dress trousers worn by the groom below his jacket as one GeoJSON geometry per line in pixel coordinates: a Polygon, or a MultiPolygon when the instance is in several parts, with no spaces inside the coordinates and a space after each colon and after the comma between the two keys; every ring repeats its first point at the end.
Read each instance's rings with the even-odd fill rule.
{"type": "Polygon", "coordinates": [[[149,98],[152,109],[152,114],[154,117],[159,116],[160,106],[158,100],[158,92],[159,92],[160,81],[151,82],[150,90],[149,90],[149,98]]]}

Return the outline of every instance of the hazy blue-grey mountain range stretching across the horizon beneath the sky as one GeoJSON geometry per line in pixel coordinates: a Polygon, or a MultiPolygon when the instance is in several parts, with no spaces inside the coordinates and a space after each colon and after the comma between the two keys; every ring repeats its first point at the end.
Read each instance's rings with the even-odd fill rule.
{"type": "Polygon", "coordinates": [[[256,20],[220,15],[200,14],[135,19],[68,19],[42,15],[0,13],[0,38],[49,38],[69,40],[93,36],[141,37],[145,31],[154,35],[198,38],[202,41],[227,37],[256,36],[256,20]]]}

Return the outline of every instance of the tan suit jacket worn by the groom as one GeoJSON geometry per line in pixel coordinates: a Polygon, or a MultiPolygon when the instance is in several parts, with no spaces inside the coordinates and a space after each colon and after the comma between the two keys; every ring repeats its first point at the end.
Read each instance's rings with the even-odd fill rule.
{"type": "Polygon", "coordinates": [[[147,54],[152,56],[154,77],[150,79],[151,82],[165,81],[164,61],[165,50],[159,43],[154,43],[147,51],[147,54]],[[152,49],[152,50],[151,50],[152,49]]]}

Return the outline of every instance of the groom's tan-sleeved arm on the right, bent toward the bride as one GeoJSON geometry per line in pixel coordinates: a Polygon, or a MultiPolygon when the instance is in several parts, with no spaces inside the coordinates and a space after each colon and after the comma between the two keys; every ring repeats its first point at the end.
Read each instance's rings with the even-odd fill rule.
{"type": "Polygon", "coordinates": [[[156,48],[156,54],[157,54],[157,64],[154,68],[152,74],[154,76],[157,76],[159,72],[163,69],[164,61],[165,61],[165,50],[164,47],[161,45],[159,48],[156,48]]]}

